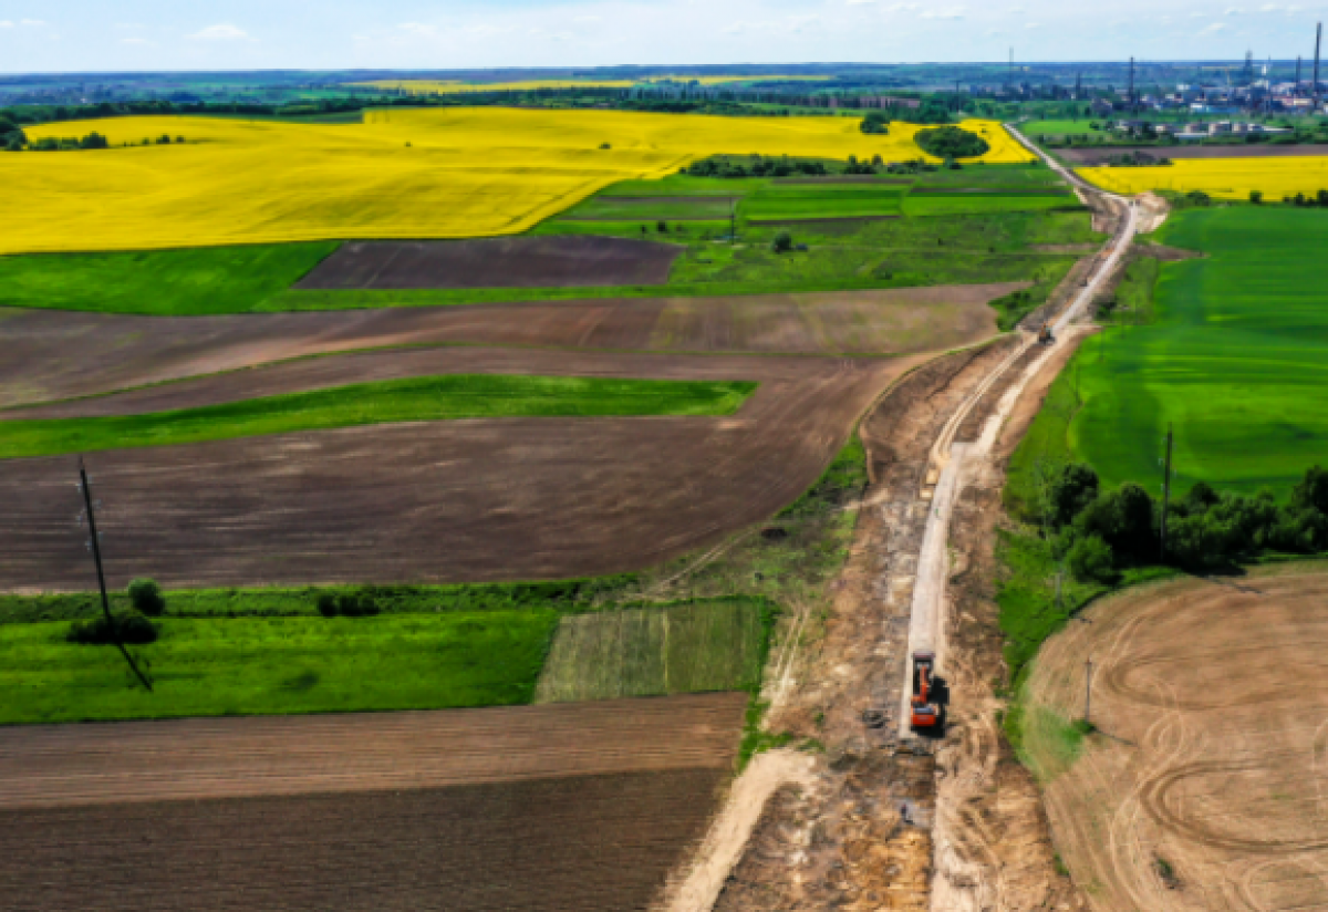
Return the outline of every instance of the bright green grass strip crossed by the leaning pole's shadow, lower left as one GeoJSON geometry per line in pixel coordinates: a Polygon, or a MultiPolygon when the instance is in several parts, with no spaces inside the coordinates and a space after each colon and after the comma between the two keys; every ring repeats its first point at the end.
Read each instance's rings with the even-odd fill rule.
{"type": "Polygon", "coordinates": [[[540,609],[166,619],[135,648],[153,693],[116,649],[65,643],[66,624],[4,624],[0,725],[523,704],[556,624],[540,609]]]}

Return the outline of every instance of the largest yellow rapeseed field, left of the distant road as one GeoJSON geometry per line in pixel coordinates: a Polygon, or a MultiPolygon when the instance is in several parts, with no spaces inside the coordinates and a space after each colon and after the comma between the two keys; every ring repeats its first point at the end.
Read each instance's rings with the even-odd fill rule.
{"type": "MultiPolygon", "coordinates": [[[[33,139],[97,130],[113,146],[161,134],[186,143],[0,154],[0,254],[501,235],[615,181],[663,177],[717,153],[920,155],[915,127],[866,135],[847,117],[461,108],[365,119],[126,117],[33,127],[33,139]]],[[[989,161],[1027,158],[1000,125],[968,126],[988,137],[989,161]]]]}

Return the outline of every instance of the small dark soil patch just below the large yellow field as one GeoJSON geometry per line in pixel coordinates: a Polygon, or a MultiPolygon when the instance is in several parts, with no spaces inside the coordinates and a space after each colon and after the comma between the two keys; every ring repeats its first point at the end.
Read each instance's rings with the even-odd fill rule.
{"type": "Polygon", "coordinates": [[[657,285],[685,248],[628,238],[352,242],[296,288],[657,285]]]}

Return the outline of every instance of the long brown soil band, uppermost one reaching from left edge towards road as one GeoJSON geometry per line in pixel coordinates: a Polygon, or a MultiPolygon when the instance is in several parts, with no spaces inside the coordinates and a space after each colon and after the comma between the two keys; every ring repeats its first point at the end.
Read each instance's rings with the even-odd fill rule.
{"type": "Polygon", "coordinates": [[[996,332],[1025,283],[201,317],[0,308],[0,408],[268,361],[425,344],[757,354],[910,354],[996,332]]]}

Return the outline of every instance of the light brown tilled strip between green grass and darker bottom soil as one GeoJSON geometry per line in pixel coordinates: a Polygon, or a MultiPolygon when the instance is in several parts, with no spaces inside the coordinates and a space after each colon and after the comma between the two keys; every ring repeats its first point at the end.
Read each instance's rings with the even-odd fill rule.
{"type": "Polygon", "coordinates": [[[732,767],[748,697],[0,729],[0,814],[732,767]],[[592,750],[587,750],[592,746],[592,750]]]}

